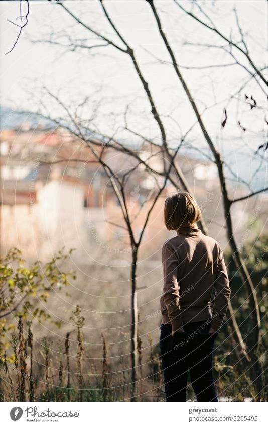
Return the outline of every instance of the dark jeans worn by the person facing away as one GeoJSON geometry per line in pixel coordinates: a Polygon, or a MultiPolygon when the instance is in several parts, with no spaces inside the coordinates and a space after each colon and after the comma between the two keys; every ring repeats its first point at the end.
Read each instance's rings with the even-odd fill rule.
{"type": "Polygon", "coordinates": [[[218,334],[208,333],[207,321],[183,326],[171,335],[171,325],[161,325],[160,352],[167,402],[186,402],[188,369],[198,402],[218,402],[214,380],[213,345],[218,334]]]}

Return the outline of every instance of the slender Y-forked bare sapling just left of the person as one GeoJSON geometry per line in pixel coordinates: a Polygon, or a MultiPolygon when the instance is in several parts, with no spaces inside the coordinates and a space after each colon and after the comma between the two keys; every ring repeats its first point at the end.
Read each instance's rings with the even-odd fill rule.
{"type": "MultiPolygon", "coordinates": [[[[135,395],[137,393],[136,382],[137,382],[137,368],[138,368],[138,353],[137,353],[137,328],[138,328],[138,295],[137,295],[137,261],[139,249],[143,240],[143,236],[145,230],[147,228],[150,215],[158,201],[159,197],[162,195],[164,189],[166,188],[167,181],[170,179],[171,170],[174,168],[174,160],[179,151],[181,144],[177,145],[177,148],[174,150],[172,155],[170,156],[170,163],[168,168],[161,174],[161,183],[159,183],[159,174],[150,167],[150,160],[159,156],[162,158],[164,155],[163,149],[158,147],[158,150],[155,153],[152,153],[148,156],[146,160],[141,159],[141,153],[139,151],[130,151],[127,150],[122,144],[116,141],[113,145],[111,142],[114,141],[114,138],[110,137],[109,139],[105,138],[106,143],[103,143],[98,140],[98,138],[88,137],[88,133],[90,133],[89,128],[85,128],[84,125],[80,122],[79,118],[74,115],[70,109],[58,98],[58,96],[52,94],[47,90],[49,96],[53,98],[54,101],[58,103],[58,105],[64,110],[66,113],[69,123],[67,124],[66,119],[63,118],[55,118],[51,117],[48,109],[46,109],[46,115],[42,114],[42,117],[45,117],[55,123],[56,126],[63,127],[65,130],[68,130],[71,135],[73,135],[76,139],[80,141],[81,144],[86,146],[90,152],[93,154],[95,158],[95,162],[99,163],[102,166],[110,184],[111,188],[114,192],[115,197],[117,198],[118,204],[121,209],[122,217],[124,220],[124,226],[120,224],[114,224],[117,227],[122,227],[127,231],[127,236],[129,239],[129,244],[131,247],[131,269],[130,269],[130,278],[131,278],[131,303],[130,303],[130,311],[131,311],[131,327],[130,327],[130,356],[131,356],[131,400],[135,400],[135,395]],[[97,150],[97,147],[102,147],[101,151],[97,150]],[[113,149],[116,152],[122,152],[124,155],[132,154],[132,157],[135,158],[135,165],[132,167],[127,167],[126,172],[118,172],[112,168],[107,160],[105,160],[105,154],[107,150],[113,149]],[[153,177],[155,181],[155,186],[153,191],[149,192],[147,195],[147,203],[143,203],[141,209],[139,209],[138,214],[135,215],[131,212],[131,208],[129,206],[129,189],[127,186],[128,181],[132,177],[133,174],[137,173],[137,169],[143,165],[143,176],[144,179],[146,176],[153,177]],[[137,215],[141,214],[141,210],[145,209],[145,220],[143,225],[141,226],[141,230],[139,233],[139,237],[136,236],[135,228],[133,227],[133,222],[137,219],[137,215]]],[[[40,100],[40,103],[42,101],[40,100]]],[[[45,105],[43,105],[46,108],[45,105]]],[[[59,162],[68,162],[68,161],[84,161],[83,159],[57,159],[49,161],[41,160],[41,163],[49,163],[55,164],[59,162]]],[[[94,161],[94,160],[93,160],[94,161]]],[[[133,177],[133,182],[137,182],[137,178],[133,177]]]]}

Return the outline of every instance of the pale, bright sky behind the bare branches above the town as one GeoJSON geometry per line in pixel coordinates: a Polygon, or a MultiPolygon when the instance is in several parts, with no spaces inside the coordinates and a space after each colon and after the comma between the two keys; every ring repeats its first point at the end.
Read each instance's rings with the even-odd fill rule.
{"type": "MultiPolygon", "coordinates": [[[[193,7],[190,0],[179,3],[187,10],[193,7]]],[[[145,0],[109,0],[104,4],[118,30],[134,49],[166,126],[168,138],[176,143],[182,134],[194,125],[196,118],[170,65],[170,57],[157,31],[151,8],[145,0]]],[[[267,63],[265,0],[199,0],[198,4],[204,8],[220,31],[227,37],[231,35],[233,40],[238,40],[240,36],[233,13],[235,7],[253,61],[259,67],[267,63]]],[[[65,0],[64,5],[83,22],[123,46],[107,23],[99,1],[65,0]]],[[[260,159],[252,158],[252,152],[266,136],[265,111],[263,108],[250,110],[245,103],[245,91],[242,91],[240,96],[235,95],[230,101],[230,97],[248,80],[249,74],[242,67],[246,66],[252,70],[248,62],[234,50],[242,66],[228,65],[234,62],[229,54],[222,49],[207,47],[208,44],[224,44],[223,41],[187,16],[173,0],[156,1],[155,5],[192,95],[200,111],[205,110],[203,120],[209,133],[223,155],[229,156],[230,161],[233,160],[236,170],[239,169],[243,156],[247,157],[247,162],[250,162],[250,168],[253,170],[260,159]],[[218,67],[219,64],[226,66],[218,67]],[[225,128],[221,129],[224,108],[227,110],[228,120],[225,128]],[[238,127],[238,120],[249,132],[243,132],[238,127]],[[239,156],[234,158],[234,153],[239,156]],[[249,159],[246,153],[250,153],[249,159]]],[[[200,18],[207,20],[200,14],[197,6],[192,10],[200,18]]],[[[99,40],[78,26],[61,6],[46,0],[30,0],[28,24],[15,49],[5,55],[17,36],[17,27],[7,20],[15,20],[19,15],[19,0],[2,1],[0,12],[2,105],[37,111],[42,100],[51,116],[62,115],[58,104],[42,92],[42,87],[45,86],[70,108],[75,108],[87,96],[88,102],[80,111],[81,117],[87,120],[94,109],[98,108],[97,117],[90,126],[94,126],[101,133],[111,135],[116,132],[118,138],[129,138],[129,135],[121,130],[127,107],[128,126],[159,141],[159,131],[150,112],[148,100],[127,55],[112,47],[77,49],[70,52],[66,48],[38,42],[48,40],[51,32],[54,32],[53,40],[62,41],[64,44],[67,41],[64,33],[75,38],[84,38],[87,43],[99,44],[99,40]]],[[[263,91],[253,79],[246,91],[249,96],[254,96],[258,107],[266,106],[263,91]]],[[[197,125],[194,125],[189,133],[188,141],[194,145],[191,149],[195,151],[198,147],[205,146],[197,125]]],[[[245,172],[248,164],[243,162],[245,172]]],[[[265,168],[264,172],[266,176],[265,168]]]]}

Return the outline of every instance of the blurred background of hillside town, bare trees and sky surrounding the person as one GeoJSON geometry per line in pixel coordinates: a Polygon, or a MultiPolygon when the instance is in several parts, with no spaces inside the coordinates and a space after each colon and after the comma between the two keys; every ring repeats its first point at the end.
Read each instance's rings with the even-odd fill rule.
{"type": "Polygon", "coordinates": [[[265,401],[266,2],[0,8],[1,399],[164,401],[163,206],[186,190],[232,290],[220,400],[265,401]]]}

